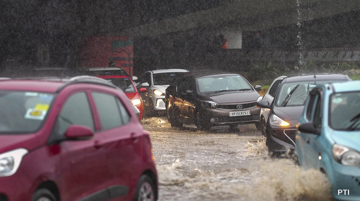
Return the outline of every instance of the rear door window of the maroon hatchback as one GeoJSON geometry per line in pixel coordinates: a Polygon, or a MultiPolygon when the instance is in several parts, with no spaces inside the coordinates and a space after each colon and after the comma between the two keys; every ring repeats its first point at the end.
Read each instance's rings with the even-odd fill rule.
{"type": "Polygon", "coordinates": [[[119,111],[117,98],[111,94],[92,92],[99,113],[102,130],[115,128],[124,124],[119,111]]]}

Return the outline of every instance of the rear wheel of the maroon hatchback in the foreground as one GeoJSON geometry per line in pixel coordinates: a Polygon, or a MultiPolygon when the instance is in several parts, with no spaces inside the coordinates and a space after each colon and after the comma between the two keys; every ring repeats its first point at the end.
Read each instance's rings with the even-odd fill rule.
{"type": "Polygon", "coordinates": [[[148,175],[141,175],[136,186],[134,201],[155,201],[155,185],[148,175]]]}

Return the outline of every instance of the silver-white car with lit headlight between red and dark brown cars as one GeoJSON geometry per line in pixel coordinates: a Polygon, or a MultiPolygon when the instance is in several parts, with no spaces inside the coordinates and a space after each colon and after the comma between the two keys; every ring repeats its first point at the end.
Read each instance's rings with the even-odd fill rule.
{"type": "Polygon", "coordinates": [[[171,84],[175,76],[189,72],[184,69],[162,69],[145,72],[139,79],[141,87],[147,88],[141,94],[147,112],[165,112],[165,89],[171,84]]]}

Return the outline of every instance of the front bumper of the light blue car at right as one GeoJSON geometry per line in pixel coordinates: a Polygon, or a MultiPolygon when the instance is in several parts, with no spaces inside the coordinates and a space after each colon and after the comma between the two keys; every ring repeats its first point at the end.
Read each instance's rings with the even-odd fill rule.
{"type": "Polygon", "coordinates": [[[360,200],[360,170],[332,162],[333,171],[327,174],[332,182],[332,196],[337,200],[360,200]],[[341,191],[339,191],[341,190],[341,191]],[[346,193],[345,191],[346,190],[346,193]]]}

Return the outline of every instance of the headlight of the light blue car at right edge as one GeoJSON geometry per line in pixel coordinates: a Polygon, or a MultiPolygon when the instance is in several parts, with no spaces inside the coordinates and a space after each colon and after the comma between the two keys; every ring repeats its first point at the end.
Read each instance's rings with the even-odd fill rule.
{"type": "Polygon", "coordinates": [[[344,147],[339,144],[334,144],[332,147],[334,159],[345,166],[360,167],[360,153],[344,147]]]}

